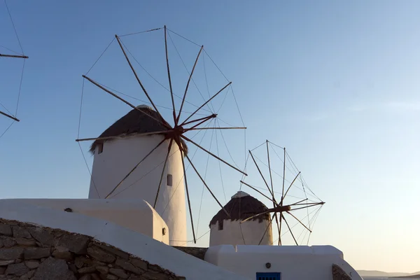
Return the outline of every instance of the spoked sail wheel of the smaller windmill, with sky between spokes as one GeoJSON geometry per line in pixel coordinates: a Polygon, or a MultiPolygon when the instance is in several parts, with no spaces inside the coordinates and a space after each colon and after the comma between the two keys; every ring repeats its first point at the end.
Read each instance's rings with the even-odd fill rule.
{"type": "MultiPolygon", "coordinates": [[[[248,221],[255,220],[255,218],[258,218],[260,216],[268,217],[267,215],[272,214],[271,218],[269,218],[269,223],[265,227],[264,233],[260,236],[260,242],[266,238],[265,236],[270,234],[271,232],[271,225],[272,221],[276,220],[276,232],[278,233],[279,238],[276,240],[278,245],[282,245],[282,238],[287,233],[290,233],[291,237],[293,238],[293,241],[296,245],[298,244],[298,240],[302,236],[302,232],[306,231],[309,232],[307,242],[309,242],[310,233],[312,232],[313,224],[316,220],[316,217],[319,214],[319,211],[321,211],[321,208],[325,202],[321,201],[307,186],[307,183],[302,178],[301,172],[297,169],[295,166],[293,160],[291,160],[290,156],[286,152],[286,148],[277,146],[276,144],[273,144],[270,141],[265,141],[263,144],[260,144],[257,148],[254,148],[252,151],[249,151],[249,156],[251,156],[251,159],[255,165],[255,173],[258,173],[259,176],[255,176],[255,178],[252,178],[252,176],[248,176],[248,179],[256,179],[260,177],[260,183],[258,183],[259,186],[256,184],[253,186],[252,183],[246,183],[245,181],[241,181],[242,184],[247,186],[248,188],[251,188],[252,190],[255,190],[255,192],[262,195],[262,197],[265,197],[267,200],[272,202],[273,207],[270,209],[265,209],[263,211],[260,211],[260,213],[249,213],[247,218],[242,219],[239,223],[242,225],[248,223],[248,221]],[[280,148],[283,150],[283,158],[279,156],[279,153],[276,152],[275,148],[280,148]],[[257,155],[255,155],[255,150],[262,150],[260,152],[263,153],[263,156],[266,156],[267,161],[260,160],[257,155]],[[274,169],[272,169],[272,160],[270,160],[270,150],[275,153],[279,161],[283,165],[283,174],[277,173],[274,169]],[[259,162],[259,165],[258,165],[259,162]],[[290,165],[286,164],[289,163],[290,165]],[[262,169],[260,165],[265,165],[268,169],[269,173],[269,180],[267,180],[264,176],[265,169],[262,169]],[[289,177],[286,174],[289,174],[289,177]],[[274,186],[274,175],[277,175],[279,177],[281,186],[281,191],[275,191],[274,186]],[[262,190],[268,190],[267,195],[262,193],[262,190]],[[279,199],[276,199],[276,193],[279,193],[281,197],[279,199]],[[292,194],[293,193],[293,194],[292,194]],[[314,208],[314,211],[309,212],[309,209],[314,208]],[[305,211],[306,210],[306,211],[305,211]],[[297,215],[297,213],[301,213],[301,215],[297,215]],[[301,216],[302,218],[300,218],[301,216]],[[288,217],[286,219],[286,217],[288,217]],[[290,219],[294,220],[296,223],[293,226],[290,226],[290,219]],[[288,230],[284,230],[284,227],[282,228],[282,224],[286,223],[286,227],[288,230]],[[296,225],[300,225],[302,227],[302,232],[299,237],[295,237],[293,234],[293,228],[296,225]]],[[[249,157],[248,157],[249,158],[249,157]]],[[[249,172],[248,168],[248,172],[249,172]]],[[[306,237],[306,233],[303,237],[306,237]]]]}

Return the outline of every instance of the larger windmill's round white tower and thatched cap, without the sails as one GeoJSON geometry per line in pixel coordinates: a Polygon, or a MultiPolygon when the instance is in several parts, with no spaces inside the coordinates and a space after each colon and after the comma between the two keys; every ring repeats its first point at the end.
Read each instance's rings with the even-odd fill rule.
{"type": "MultiPolygon", "coordinates": [[[[148,113],[154,112],[153,116],[156,115],[156,112],[147,106],[138,106],[138,108],[146,110],[148,113]]],[[[153,123],[155,120],[147,116],[141,116],[142,120],[130,118],[130,114],[136,113],[137,117],[141,115],[139,111],[132,110],[114,124],[118,125],[118,122],[123,122],[123,126],[126,127],[122,127],[121,131],[129,130],[127,136],[107,140],[103,143],[95,141],[96,144],[92,145],[94,160],[89,198],[106,198],[133,167],[164,139],[162,134],[136,135],[133,129],[138,131],[137,134],[160,130],[159,125],[153,123]]],[[[114,125],[111,125],[109,130],[112,130],[114,125]]],[[[107,132],[106,130],[103,134],[107,136],[120,135],[121,131],[117,129],[107,132]]],[[[169,139],[153,151],[144,162],[141,162],[139,167],[108,198],[139,198],[153,206],[168,147],[169,139]]],[[[172,145],[155,207],[155,210],[168,225],[169,243],[172,246],[182,246],[186,244],[187,240],[184,192],[181,153],[179,146],[172,145]]]]}

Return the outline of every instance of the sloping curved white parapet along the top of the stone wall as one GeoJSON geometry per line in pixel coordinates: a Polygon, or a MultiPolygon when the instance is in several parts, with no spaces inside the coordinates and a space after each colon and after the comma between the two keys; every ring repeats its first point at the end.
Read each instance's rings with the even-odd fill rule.
{"type": "Polygon", "coordinates": [[[0,200],[0,218],[32,223],[48,228],[94,237],[122,251],[135,255],[151,264],[159,265],[188,280],[245,280],[244,276],[216,267],[179,251],[172,246],[151,239],[116,223],[79,213],[58,211],[19,200],[0,200]]]}

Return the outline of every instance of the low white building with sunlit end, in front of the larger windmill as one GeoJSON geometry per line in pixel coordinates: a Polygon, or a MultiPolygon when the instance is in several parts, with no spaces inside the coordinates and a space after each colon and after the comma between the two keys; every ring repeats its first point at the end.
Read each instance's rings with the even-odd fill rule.
{"type": "MultiPolygon", "coordinates": [[[[0,200],[4,202],[6,200],[0,200]]],[[[158,212],[144,200],[11,199],[12,202],[72,211],[116,223],[169,244],[169,229],[158,212]]]]}

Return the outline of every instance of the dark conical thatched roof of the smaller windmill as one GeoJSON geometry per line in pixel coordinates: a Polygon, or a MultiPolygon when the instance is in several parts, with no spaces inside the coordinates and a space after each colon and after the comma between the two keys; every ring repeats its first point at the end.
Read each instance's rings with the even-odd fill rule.
{"type": "MultiPolygon", "coordinates": [[[[226,215],[225,211],[221,209],[218,211],[216,216],[211,219],[210,225],[216,225],[217,221],[221,222],[223,220],[242,221],[246,218],[254,216],[255,214],[259,214],[268,210],[268,208],[255,197],[251,197],[251,195],[241,191],[232,196],[230,202],[225,205],[225,209],[230,214],[230,218],[228,215],[226,215]]],[[[253,218],[252,220],[259,220],[261,223],[262,220],[269,220],[269,218],[269,214],[264,214],[253,218]]]]}

